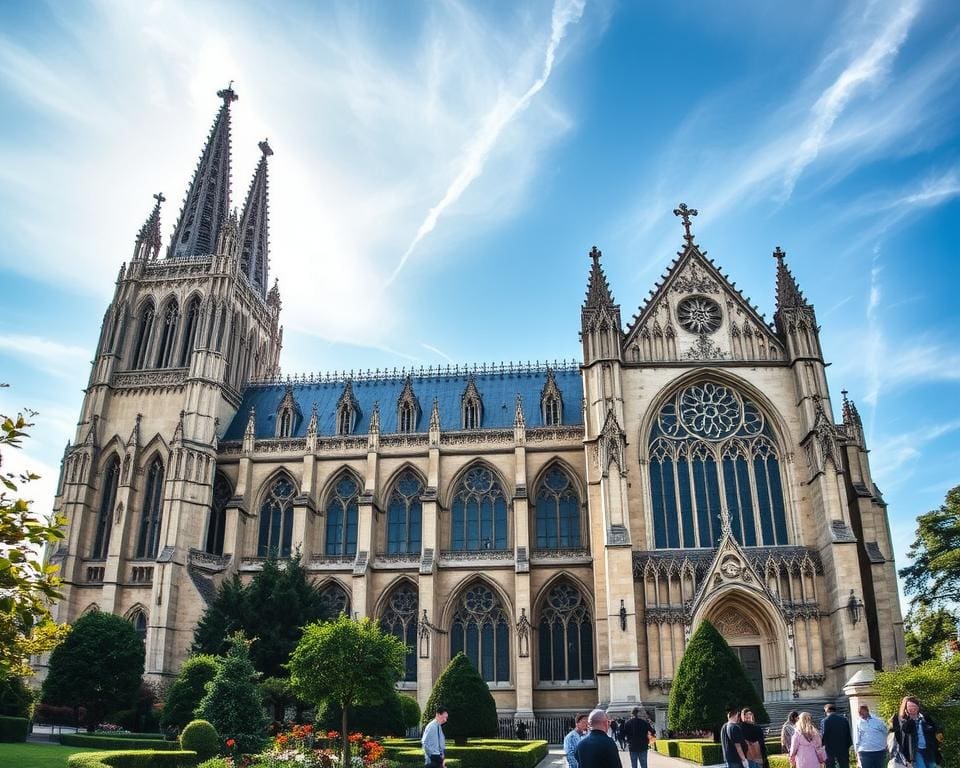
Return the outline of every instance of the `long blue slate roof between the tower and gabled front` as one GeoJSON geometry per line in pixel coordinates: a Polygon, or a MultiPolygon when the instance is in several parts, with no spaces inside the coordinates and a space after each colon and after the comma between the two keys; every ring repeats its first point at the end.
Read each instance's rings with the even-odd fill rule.
{"type": "MultiPolygon", "coordinates": [[[[564,425],[583,424],[581,402],[583,384],[580,370],[576,365],[566,365],[553,369],[557,388],[563,399],[561,423],[564,425]]],[[[426,372],[410,372],[413,393],[420,402],[420,418],[416,432],[427,432],[430,425],[430,411],[436,398],[440,409],[440,428],[445,431],[461,429],[461,396],[467,388],[467,382],[473,376],[477,390],[483,401],[483,429],[509,429],[513,427],[516,398],[523,398],[523,416],[527,427],[543,426],[540,412],[540,393],[547,381],[546,366],[514,367],[490,366],[476,369],[428,369],[426,372]]],[[[303,437],[307,433],[310,412],[314,403],[317,406],[317,431],[321,436],[336,434],[337,402],[343,394],[347,379],[345,376],[321,376],[316,379],[297,377],[293,381],[269,384],[251,384],[243,392],[243,400],[233,421],[223,436],[224,440],[241,440],[250,416],[255,409],[255,429],[257,438],[272,438],[276,435],[277,410],[283,400],[287,387],[291,387],[294,400],[300,408],[292,437],[303,437]]],[[[363,374],[352,378],[353,396],[360,408],[360,418],[354,428],[354,434],[366,434],[370,429],[370,416],[374,403],[380,403],[380,432],[397,432],[397,400],[403,392],[406,379],[404,373],[398,375],[363,374]]]]}

